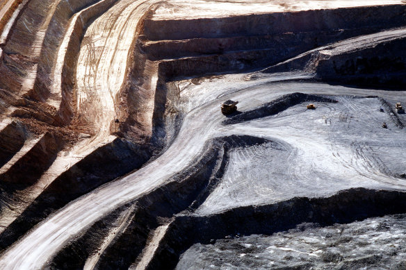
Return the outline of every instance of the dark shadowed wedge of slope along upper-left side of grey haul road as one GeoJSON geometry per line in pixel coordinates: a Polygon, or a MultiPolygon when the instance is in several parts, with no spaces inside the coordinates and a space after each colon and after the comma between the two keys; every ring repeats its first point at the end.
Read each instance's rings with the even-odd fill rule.
{"type": "Polygon", "coordinates": [[[152,146],[117,138],[74,164],[51,183],[22,214],[0,234],[4,250],[33,226],[92,189],[138,169],[151,158],[152,146]]]}

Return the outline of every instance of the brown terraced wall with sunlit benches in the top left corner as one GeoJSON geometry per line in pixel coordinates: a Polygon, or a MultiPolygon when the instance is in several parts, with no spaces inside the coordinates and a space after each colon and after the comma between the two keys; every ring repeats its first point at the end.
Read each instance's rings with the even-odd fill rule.
{"type": "Polygon", "coordinates": [[[0,85],[15,92],[24,92],[22,77],[30,76],[31,72],[35,81],[33,85],[28,85],[24,95],[35,101],[53,100],[57,111],[55,115],[50,115],[47,121],[49,124],[63,126],[69,123],[74,114],[72,88],[83,32],[88,26],[87,23],[106,11],[113,0],[37,2],[34,0],[26,4],[21,15],[26,19],[17,21],[3,48],[4,53],[17,53],[20,57],[25,57],[26,61],[35,62],[35,65],[28,64],[31,69],[20,65],[10,69],[2,61],[0,69],[3,74],[9,76],[3,76],[0,85]],[[46,30],[41,33],[41,28],[46,30]],[[38,47],[34,51],[33,45],[38,47]],[[56,70],[58,63],[63,63],[60,70],[56,70]],[[19,87],[23,89],[20,90],[19,87]]]}

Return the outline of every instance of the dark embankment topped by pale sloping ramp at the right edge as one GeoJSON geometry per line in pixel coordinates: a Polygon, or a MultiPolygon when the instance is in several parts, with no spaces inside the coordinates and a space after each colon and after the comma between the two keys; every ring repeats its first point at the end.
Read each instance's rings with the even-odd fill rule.
{"type": "Polygon", "coordinates": [[[323,81],[397,87],[405,83],[405,28],[342,40],[263,69],[315,72],[323,81]]]}

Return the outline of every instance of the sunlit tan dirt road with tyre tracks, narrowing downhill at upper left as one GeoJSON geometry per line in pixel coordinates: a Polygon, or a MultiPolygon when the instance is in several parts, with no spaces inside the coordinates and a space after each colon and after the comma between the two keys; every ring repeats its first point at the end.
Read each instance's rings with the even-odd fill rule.
{"type": "Polygon", "coordinates": [[[158,1],[120,1],[93,22],[81,44],[76,69],[77,110],[95,125],[86,148],[110,142],[110,126],[118,118],[117,94],[127,74],[140,19],[158,1]]]}

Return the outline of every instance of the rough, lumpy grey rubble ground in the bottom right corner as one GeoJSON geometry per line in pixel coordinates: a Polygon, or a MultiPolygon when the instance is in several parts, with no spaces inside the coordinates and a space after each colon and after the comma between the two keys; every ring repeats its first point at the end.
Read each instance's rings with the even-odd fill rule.
{"type": "Polygon", "coordinates": [[[405,269],[405,214],[195,244],[177,269],[405,269]]]}

